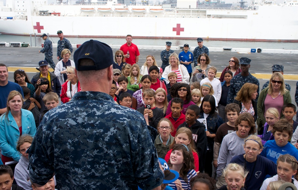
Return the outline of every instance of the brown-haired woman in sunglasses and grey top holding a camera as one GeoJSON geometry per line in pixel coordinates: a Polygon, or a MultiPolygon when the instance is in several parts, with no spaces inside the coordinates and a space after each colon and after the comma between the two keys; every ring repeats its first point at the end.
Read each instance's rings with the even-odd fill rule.
{"type": "Polygon", "coordinates": [[[200,63],[200,65],[195,66],[193,70],[193,77],[191,78],[192,82],[201,82],[201,80],[207,76],[208,70],[211,67],[209,65],[209,56],[205,53],[199,55],[198,63],[200,63]]]}

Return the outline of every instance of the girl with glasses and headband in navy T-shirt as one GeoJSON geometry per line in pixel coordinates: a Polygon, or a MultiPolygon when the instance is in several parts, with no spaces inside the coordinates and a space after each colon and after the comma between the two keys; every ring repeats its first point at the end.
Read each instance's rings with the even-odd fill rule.
{"type": "Polygon", "coordinates": [[[266,175],[276,175],[276,164],[266,157],[260,156],[263,150],[261,139],[255,135],[249,136],[244,141],[245,154],[232,158],[230,163],[240,164],[248,171],[245,181],[245,189],[260,189],[266,175]]]}

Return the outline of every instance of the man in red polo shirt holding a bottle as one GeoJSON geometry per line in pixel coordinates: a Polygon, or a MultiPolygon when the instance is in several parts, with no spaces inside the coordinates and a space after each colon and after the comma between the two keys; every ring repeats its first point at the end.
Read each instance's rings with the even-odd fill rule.
{"type": "Polygon", "coordinates": [[[138,46],[136,46],[136,44],[131,43],[131,41],[132,36],[128,34],[126,36],[126,43],[120,47],[120,50],[124,53],[125,62],[127,62],[130,65],[133,65],[135,63],[138,64],[140,52],[138,46]]]}

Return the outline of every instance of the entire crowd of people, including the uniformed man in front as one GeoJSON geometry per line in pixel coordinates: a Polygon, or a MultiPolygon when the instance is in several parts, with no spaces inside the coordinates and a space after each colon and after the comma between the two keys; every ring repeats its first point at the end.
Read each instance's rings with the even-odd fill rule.
{"type": "Polygon", "coordinates": [[[52,43],[43,34],[39,52],[45,60],[31,81],[21,69],[8,81],[0,63],[1,161],[22,188],[54,180],[58,189],[160,189],[162,183],[193,189],[192,178],[204,178],[195,177],[199,172],[208,174],[201,183],[213,183],[211,189],[211,178],[216,189],[266,189],[277,180],[298,187],[298,143],[291,142],[298,117],[293,120],[296,106],[282,65],[272,66],[260,92],[246,57],[231,57],[216,78],[202,38],[193,53],[184,44],[179,55],[166,42],[160,60],[148,55],[141,66],[131,35],[114,54],[90,40],[72,56],[70,42],[57,34],[58,63],[53,65],[52,43]],[[169,176],[158,157],[179,178],[165,183],[169,176]],[[285,169],[290,178],[280,171],[285,169]]]}

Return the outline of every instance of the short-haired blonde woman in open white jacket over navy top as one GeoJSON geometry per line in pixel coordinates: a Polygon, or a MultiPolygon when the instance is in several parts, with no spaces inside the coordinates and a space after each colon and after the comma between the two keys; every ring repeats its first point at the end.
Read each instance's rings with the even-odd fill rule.
{"type": "Polygon", "coordinates": [[[63,59],[61,59],[55,67],[54,74],[58,77],[61,85],[67,81],[66,68],[68,66],[75,67],[75,62],[69,59],[71,54],[69,49],[63,49],[61,51],[61,57],[63,59]]]}

